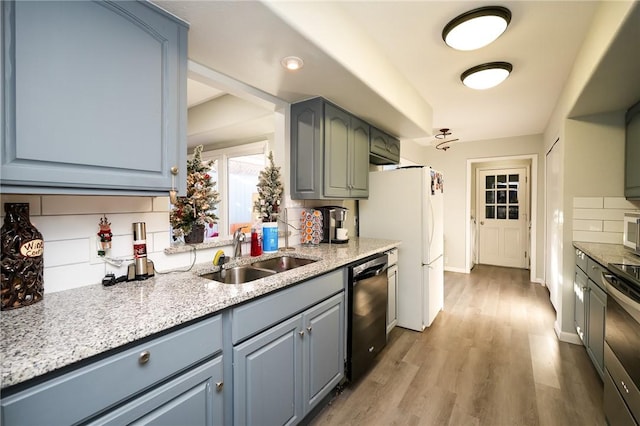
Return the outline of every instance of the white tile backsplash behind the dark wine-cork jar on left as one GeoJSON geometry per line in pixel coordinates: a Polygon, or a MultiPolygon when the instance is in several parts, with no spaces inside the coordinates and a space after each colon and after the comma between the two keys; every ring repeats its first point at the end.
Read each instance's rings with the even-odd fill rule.
{"type": "Polygon", "coordinates": [[[44,290],[51,293],[96,284],[105,273],[126,273],[125,260],[116,267],[98,257],[98,223],[102,215],[111,222],[112,248],[107,256],[132,259],[132,223],[145,222],[147,256],[161,273],[169,269],[186,269],[197,262],[212,259],[217,249],[166,255],[170,246],[169,198],[123,196],[2,195],[4,203],[29,203],[31,223],[44,239],[44,290]]]}

